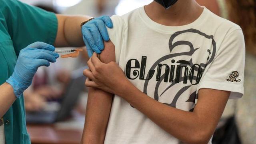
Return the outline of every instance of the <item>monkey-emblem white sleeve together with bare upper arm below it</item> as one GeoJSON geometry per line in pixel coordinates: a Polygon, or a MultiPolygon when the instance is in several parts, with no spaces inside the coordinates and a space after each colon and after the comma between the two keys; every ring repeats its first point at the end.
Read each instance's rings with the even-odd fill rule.
{"type": "Polygon", "coordinates": [[[244,38],[240,29],[226,35],[214,60],[206,67],[198,85],[198,101],[194,108],[198,120],[213,134],[228,98],[240,98],[244,88],[244,38]],[[236,72],[234,80],[229,77],[236,72]]]}

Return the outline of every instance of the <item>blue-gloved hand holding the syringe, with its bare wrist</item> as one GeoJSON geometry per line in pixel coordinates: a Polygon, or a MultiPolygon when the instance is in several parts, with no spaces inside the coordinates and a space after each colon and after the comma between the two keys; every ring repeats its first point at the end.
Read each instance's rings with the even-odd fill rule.
{"type": "Polygon", "coordinates": [[[38,67],[56,62],[59,55],[54,50],[52,45],[35,42],[20,51],[12,76],[0,86],[0,118],[30,86],[38,67]]]}

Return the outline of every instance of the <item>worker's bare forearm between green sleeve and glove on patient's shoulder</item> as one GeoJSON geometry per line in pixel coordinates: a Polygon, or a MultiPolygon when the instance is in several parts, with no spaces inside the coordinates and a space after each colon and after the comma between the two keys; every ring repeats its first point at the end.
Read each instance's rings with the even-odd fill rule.
{"type": "Polygon", "coordinates": [[[89,16],[66,16],[56,14],[58,19],[58,32],[54,46],[84,46],[80,24],[89,16]]]}

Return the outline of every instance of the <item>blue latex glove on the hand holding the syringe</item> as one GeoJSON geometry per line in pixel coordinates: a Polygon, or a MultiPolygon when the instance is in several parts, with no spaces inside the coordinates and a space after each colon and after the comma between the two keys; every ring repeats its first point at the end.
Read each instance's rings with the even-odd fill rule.
{"type": "Polygon", "coordinates": [[[54,50],[54,46],[50,44],[35,42],[20,51],[14,72],[6,80],[17,98],[30,86],[38,67],[50,66],[50,62],[56,62],[59,54],[54,50]]]}

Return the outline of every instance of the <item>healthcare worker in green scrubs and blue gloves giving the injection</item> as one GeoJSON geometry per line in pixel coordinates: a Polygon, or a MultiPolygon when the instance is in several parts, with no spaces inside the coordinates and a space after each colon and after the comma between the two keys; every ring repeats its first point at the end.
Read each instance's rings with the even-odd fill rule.
{"type": "MultiPolygon", "coordinates": [[[[89,17],[54,14],[18,0],[0,4],[0,144],[29,144],[23,92],[38,67],[56,62],[55,47],[84,46],[83,24],[89,17]]],[[[110,18],[96,20],[99,27],[91,32],[100,30],[108,40],[105,24],[112,27],[110,18]]]]}

